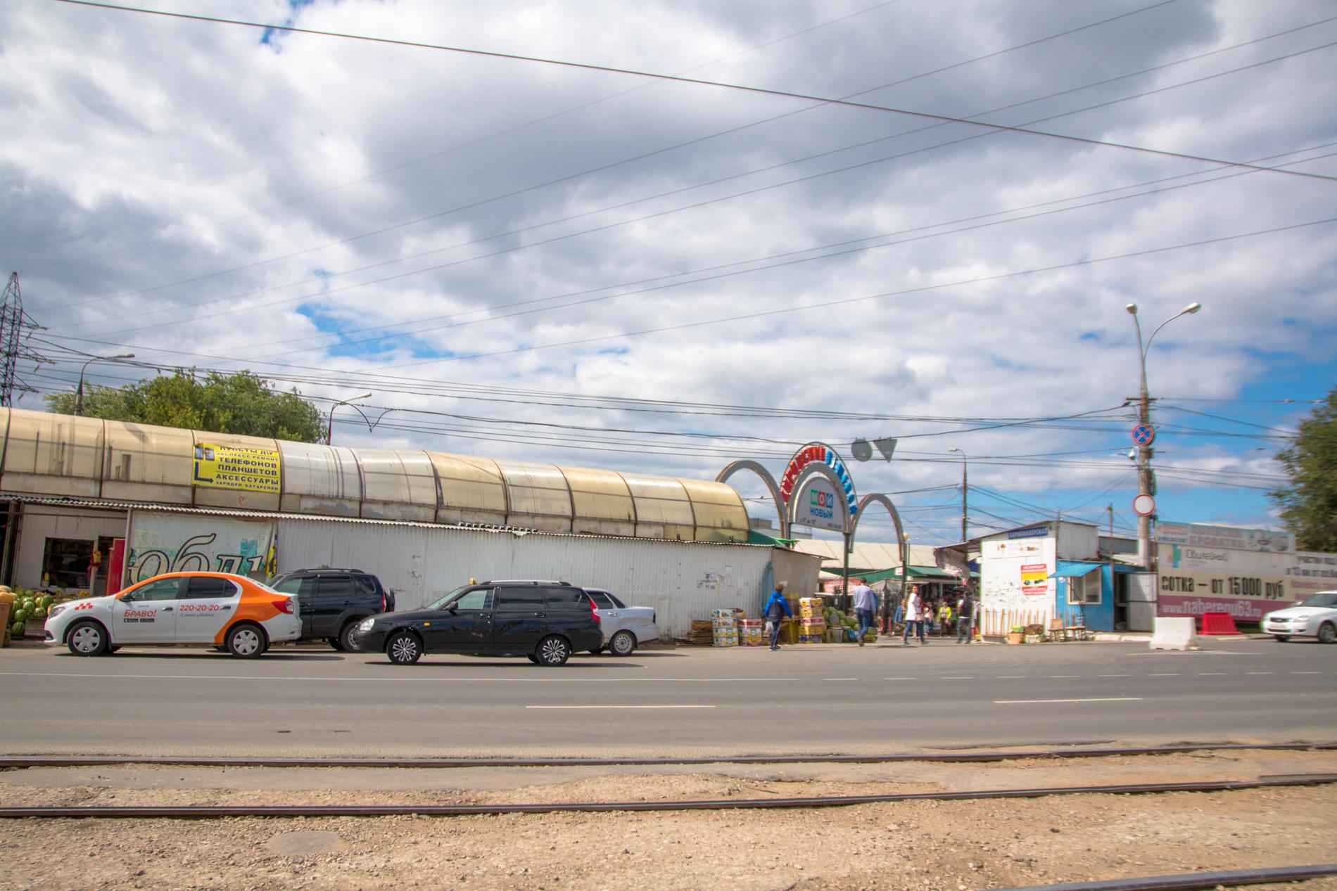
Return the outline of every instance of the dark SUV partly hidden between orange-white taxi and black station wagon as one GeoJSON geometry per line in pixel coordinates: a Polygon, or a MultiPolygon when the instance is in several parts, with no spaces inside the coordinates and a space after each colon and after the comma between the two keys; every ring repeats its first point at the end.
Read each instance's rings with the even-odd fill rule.
{"type": "Polygon", "coordinates": [[[361,569],[298,569],[270,588],[301,604],[302,639],[324,637],[334,649],[350,649],[349,636],[368,616],[394,612],[394,593],[361,569]]]}

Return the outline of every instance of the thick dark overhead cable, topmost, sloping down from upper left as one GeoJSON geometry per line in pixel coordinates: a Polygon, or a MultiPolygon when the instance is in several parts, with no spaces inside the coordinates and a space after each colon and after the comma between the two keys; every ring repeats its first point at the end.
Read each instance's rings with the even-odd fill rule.
{"type": "MultiPolygon", "coordinates": [[[[1163,0],[1163,3],[1170,3],[1170,1],[1171,0],[1163,0]]],[[[1190,152],[1175,152],[1175,151],[1169,151],[1169,150],[1165,150],[1165,148],[1151,148],[1148,146],[1135,146],[1135,144],[1131,144],[1131,143],[1116,143],[1116,142],[1112,142],[1112,140],[1094,139],[1094,138],[1090,138],[1090,136],[1076,136],[1076,135],[1072,135],[1072,134],[1059,134],[1059,132],[1052,132],[1052,131],[1046,131],[1046,130],[1032,130],[1029,127],[1011,127],[1011,126],[1007,126],[1007,124],[993,124],[993,123],[981,122],[981,120],[972,120],[969,118],[956,118],[956,116],[952,116],[952,115],[937,115],[937,114],[925,112],[925,111],[913,111],[913,110],[909,110],[909,108],[896,108],[896,107],[892,107],[892,106],[878,106],[878,104],[874,104],[874,103],[853,102],[853,100],[849,100],[849,99],[837,99],[837,98],[833,98],[833,96],[818,96],[818,95],[813,95],[813,94],[793,92],[793,91],[787,91],[787,90],[774,90],[774,88],[767,88],[767,87],[754,87],[754,85],[747,85],[747,84],[734,84],[734,83],[727,83],[727,81],[722,81],[722,80],[707,80],[707,79],[703,79],[703,77],[686,77],[686,76],[682,76],[682,75],[667,75],[667,73],[659,73],[659,72],[651,72],[651,71],[640,71],[640,69],[635,69],[635,68],[619,68],[619,67],[615,67],[615,65],[599,65],[599,64],[594,64],[594,63],[572,61],[572,60],[566,60],[566,59],[544,59],[541,56],[527,56],[527,55],[521,55],[521,53],[499,52],[499,51],[492,51],[492,49],[475,49],[475,48],[469,48],[469,47],[453,47],[453,45],[448,45],[448,44],[433,44],[433,43],[417,41],[417,40],[396,40],[393,37],[373,37],[373,36],[369,36],[369,35],[357,35],[357,33],[348,33],[348,32],[340,32],[340,31],[324,31],[324,29],[318,29],[318,28],[298,28],[295,25],[266,24],[266,23],[261,23],[261,21],[247,21],[245,19],[223,19],[223,17],[219,17],[219,16],[202,16],[202,15],[193,15],[193,13],[186,13],[186,12],[167,12],[167,11],[163,11],[163,9],[144,9],[142,7],[128,7],[128,5],[111,4],[111,3],[95,3],[94,0],[55,0],[55,3],[66,3],[66,4],[71,4],[71,5],[79,5],[79,7],[95,7],[95,8],[99,8],[99,9],[112,9],[112,11],[116,11],[116,12],[136,12],[136,13],[143,13],[143,15],[163,16],[163,17],[168,17],[168,19],[186,19],[186,20],[191,20],[191,21],[207,21],[207,23],[211,23],[211,24],[226,24],[226,25],[238,25],[238,27],[243,27],[243,28],[258,28],[258,29],[262,29],[262,31],[285,31],[285,32],[290,32],[290,33],[306,33],[306,35],[313,35],[313,36],[320,36],[320,37],[337,37],[337,39],[344,39],[344,40],[362,40],[362,41],[366,41],[366,43],[380,43],[380,44],[390,44],[390,45],[398,45],[398,47],[413,47],[413,48],[417,48],[417,49],[437,49],[437,51],[443,51],[443,52],[455,52],[455,53],[463,53],[463,55],[471,55],[471,56],[484,56],[484,57],[491,57],[491,59],[504,59],[504,60],[509,60],[509,61],[527,61],[527,63],[533,63],[533,64],[558,65],[558,67],[563,67],[563,68],[576,68],[576,69],[582,69],[582,71],[599,71],[599,72],[604,72],[604,73],[628,75],[628,76],[634,76],[634,77],[652,77],[655,80],[664,80],[664,81],[673,81],[673,83],[691,84],[691,85],[698,85],[698,87],[717,87],[717,88],[721,88],[721,90],[734,90],[734,91],[747,92],[747,94],[761,95],[761,96],[775,96],[775,98],[781,98],[781,99],[797,99],[797,100],[801,100],[801,102],[816,102],[816,103],[821,103],[821,104],[826,104],[826,106],[840,106],[840,107],[846,107],[846,108],[861,108],[861,110],[865,110],[865,111],[880,111],[880,112],[893,114],[893,115],[905,115],[905,116],[910,116],[910,118],[921,118],[921,119],[925,119],[925,120],[940,120],[940,122],[944,122],[944,123],[965,124],[968,127],[980,127],[980,128],[992,130],[992,131],[997,131],[997,132],[1012,132],[1012,134],[1023,134],[1023,135],[1028,135],[1028,136],[1042,136],[1042,138],[1046,138],[1046,139],[1058,139],[1058,140],[1071,142],[1071,143],[1076,143],[1076,144],[1099,146],[1099,147],[1104,147],[1104,148],[1118,148],[1118,150],[1122,150],[1122,151],[1132,151],[1132,152],[1140,152],[1140,154],[1147,154],[1147,155],[1158,155],[1158,156],[1162,156],[1162,158],[1177,158],[1177,159],[1181,159],[1181,160],[1197,160],[1197,162],[1202,162],[1202,163],[1207,163],[1207,164],[1223,164],[1223,166],[1227,166],[1227,167],[1249,167],[1249,168],[1253,168],[1253,170],[1277,172],[1277,174],[1282,174],[1282,175],[1286,175],[1286,176],[1304,176],[1304,178],[1309,178],[1309,179],[1322,179],[1322,180],[1329,180],[1329,182],[1337,180],[1337,176],[1330,176],[1328,174],[1314,174],[1314,172],[1308,172],[1308,171],[1281,170],[1281,168],[1275,168],[1275,167],[1259,167],[1259,166],[1255,166],[1255,164],[1249,164],[1246,162],[1229,160],[1229,159],[1223,159],[1223,158],[1211,158],[1209,155],[1194,155],[1194,154],[1190,154],[1190,152]]],[[[1162,5],[1162,4],[1157,4],[1157,5],[1162,5]]]]}

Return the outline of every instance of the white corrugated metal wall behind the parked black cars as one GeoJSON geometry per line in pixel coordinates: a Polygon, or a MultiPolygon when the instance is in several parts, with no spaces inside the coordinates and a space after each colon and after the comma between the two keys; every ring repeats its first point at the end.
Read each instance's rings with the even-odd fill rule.
{"type": "MultiPolygon", "coordinates": [[[[738,606],[755,614],[771,581],[771,548],[635,538],[543,536],[476,529],[279,520],[281,572],[352,566],[416,609],[477,578],[558,578],[607,588],[659,613],[664,635],[685,636],[694,618],[738,606]]],[[[787,552],[781,552],[787,553],[787,552]]],[[[797,557],[797,556],[796,556],[797,557]]],[[[802,557],[797,557],[802,560],[802,557]]],[[[812,562],[816,584],[817,561],[812,562]]],[[[790,580],[798,584],[796,580],[790,580]]]]}

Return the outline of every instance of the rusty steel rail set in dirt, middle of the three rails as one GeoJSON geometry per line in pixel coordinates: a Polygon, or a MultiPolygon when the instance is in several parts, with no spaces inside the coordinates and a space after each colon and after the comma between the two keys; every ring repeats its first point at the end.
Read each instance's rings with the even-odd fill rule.
{"type": "Polygon", "coordinates": [[[980,799],[1036,799],[1052,795],[1151,795],[1165,792],[1230,792],[1277,787],[1325,785],[1337,773],[1296,773],[1257,780],[1198,783],[1120,783],[1115,785],[1060,785],[1028,789],[967,792],[898,792],[892,795],[820,795],[789,799],[709,799],[695,801],[558,801],[548,804],[258,804],[258,806],[115,806],[115,807],[0,807],[0,819],[218,819],[218,818],[330,818],[330,816],[493,816],[500,814],[598,814],[610,811],[733,811],[813,807],[849,807],[896,801],[968,801],[980,799]]]}

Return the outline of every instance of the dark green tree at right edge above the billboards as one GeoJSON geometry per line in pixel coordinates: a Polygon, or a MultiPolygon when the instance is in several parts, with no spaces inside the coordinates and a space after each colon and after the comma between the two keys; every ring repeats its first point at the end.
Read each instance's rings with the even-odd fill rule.
{"type": "Polygon", "coordinates": [[[1337,386],[1300,422],[1289,449],[1277,453],[1290,485],[1267,496],[1281,508],[1301,550],[1337,552],[1337,386]]]}

